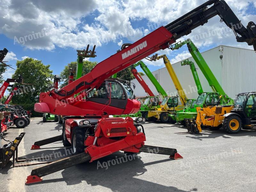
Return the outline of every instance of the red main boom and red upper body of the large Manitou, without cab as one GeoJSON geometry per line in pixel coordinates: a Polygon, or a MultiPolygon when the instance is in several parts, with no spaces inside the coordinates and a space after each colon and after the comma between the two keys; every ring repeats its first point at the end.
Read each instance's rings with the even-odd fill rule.
{"type": "MultiPolygon", "coordinates": [[[[99,105],[97,107],[97,104],[95,103],[93,103],[92,110],[92,105],[90,105],[90,102],[87,100],[69,98],[81,91],[99,88],[109,76],[112,76],[160,49],[167,48],[169,44],[174,42],[175,40],[172,38],[172,34],[164,27],[160,27],[141,38],[139,41],[133,43],[128,48],[121,50],[108,59],[98,63],[90,73],[68,84],[59,91],[41,93],[39,103],[35,104],[35,111],[56,115],[69,114],[73,116],[102,116],[103,114],[122,115],[138,112],[139,108],[137,108],[137,106],[139,104],[136,100],[127,102],[127,108],[130,108],[131,110],[127,110],[127,108],[126,110],[119,110],[118,108],[114,109],[111,106],[106,106],[104,107],[104,110],[102,110],[101,108],[104,105],[99,105]]],[[[83,94],[80,95],[85,96],[83,94]]],[[[83,98],[82,96],[80,98],[83,98]]]]}

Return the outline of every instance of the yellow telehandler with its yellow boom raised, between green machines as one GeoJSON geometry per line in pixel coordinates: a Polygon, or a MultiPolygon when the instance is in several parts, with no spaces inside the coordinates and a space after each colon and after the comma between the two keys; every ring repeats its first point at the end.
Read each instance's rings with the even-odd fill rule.
{"type": "Polygon", "coordinates": [[[155,110],[148,111],[148,117],[153,118],[154,121],[160,120],[162,123],[168,123],[170,121],[176,123],[176,121],[175,121],[176,113],[177,113],[177,111],[180,111],[184,108],[184,106],[187,102],[187,96],[186,96],[184,90],[182,89],[180,81],[177,78],[177,76],[172,68],[172,64],[166,55],[158,56],[156,54],[156,55],[153,55],[148,60],[156,61],[159,59],[164,60],[164,64],[168,70],[169,75],[172,78],[173,84],[177,90],[179,97],[180,97],[181,105],[179,105],[178,95],[177,96],[166,96],[164,98],[164,100],[162,101],[160,108],[155,108],[155,110]]]}

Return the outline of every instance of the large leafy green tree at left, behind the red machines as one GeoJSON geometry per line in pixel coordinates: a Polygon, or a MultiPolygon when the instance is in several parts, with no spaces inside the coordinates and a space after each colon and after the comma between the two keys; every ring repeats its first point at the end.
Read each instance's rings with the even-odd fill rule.
{"type": "Polygon", "coordinates": [[[52,70],[49,69],[50,65],[44,65],[42,61],[32,58],[26,58],[22,61],[18,60],[16,66],[17,69],[12,78],[18,78],[21,75],[24,83],[31,85],[21,85],[21,90],[24,89],[25,92],[14,95],[12,103],[21,106],[29,104],[29,106],[31,105],[29,109],[33,109],[34,104],[38,102],[40,93],[49,91],[49,87],[53,84],[52,70]]]}

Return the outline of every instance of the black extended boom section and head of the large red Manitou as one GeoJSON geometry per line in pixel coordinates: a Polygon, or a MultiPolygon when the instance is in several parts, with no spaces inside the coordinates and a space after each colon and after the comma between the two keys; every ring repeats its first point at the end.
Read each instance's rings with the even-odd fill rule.
{"type": "Polygon", "coordinates": [[[191,31],[200,25],[204,25],[212,17],[219,15],[221,20],[235,35],[237,42],[246,42],[248,45],[253,45],[256,51],[256,26],[250,21],[245,28],[235,13],[230,9],[228,4],[223,0],[210,0],[198,6],[179,19],[169,23],[165,28],[170,31],[175,39],[188,35],[191,31]],[[212,5],[211,7],[208,7],[212,5]]]}

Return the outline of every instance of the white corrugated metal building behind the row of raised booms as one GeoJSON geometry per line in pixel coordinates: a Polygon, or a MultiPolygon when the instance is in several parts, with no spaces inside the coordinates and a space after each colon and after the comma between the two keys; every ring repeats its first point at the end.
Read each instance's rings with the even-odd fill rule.
{"type": "MultiPolygon", "coordinates": [[[[235,98],[238,93],[256,91],[256,53],[253,50],[220,45],[201,54],[229,97],[235,98]],[[222,59],[220,59],[221,55],[222,59]]],[[[195,63],[204,92],[211,92],[212,90],[195,60],[192,57],[188,59],[195,63]]],[[[172,67],[188,99],[197,98],[196,84],[190,67],[188,65],[181,66],[180,62],[172,64],[172,67]]],[[[165,67],[152,73],[168,95],[177,95],[172,79],[165,67]]],[[[151,91],[158,95],[148,77],[144,75],[142,78],[151,91]]],[[[131,82],[136,85],[134,90],[136,97],[147,96],[136,79],[131,82]]]]}

